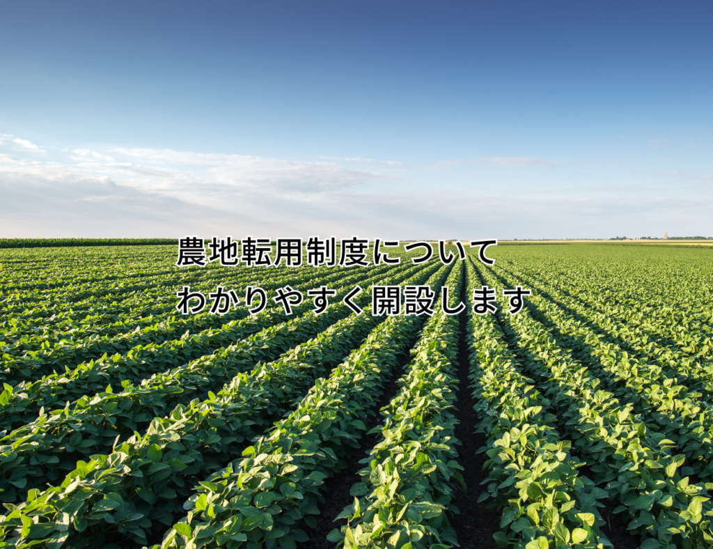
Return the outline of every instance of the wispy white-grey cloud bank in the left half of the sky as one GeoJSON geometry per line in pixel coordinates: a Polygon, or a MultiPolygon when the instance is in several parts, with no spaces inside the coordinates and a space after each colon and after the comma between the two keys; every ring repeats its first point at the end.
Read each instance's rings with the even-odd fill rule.
{"type": "MultiPolygon", "coordinates": [[[[174,227],[180,226],[181,220],[188,226],[197,222],[215,225],[223,220],[226,227],[239,220],[245,230],[266,222],[294,230],[292,220],[299,219],[304,228],[310,218],[334,222],[352,208],[342,204],[325,210],[325,205],[333,203],[330,194],[343,195],[372,180],[396,179],[328,162],[175,150],[116,148],[111,152],[75,149],[64,160],[43,162],[0,153],[4,221],[10,223],[18,216],[36,221],[43,211],[48,220],[58,222],[59,212],[63,218],[79,219],[85,211],[82,208],[108,207],[111,211],[104,220],[123,226],[125,219],[134,219],[140,211],[148,216],[147,222],[156,217],[165,220],[160,212],[174,212],[175,222],[169,223],[174,227]],[[144,206],[137,207],[142,200],[153,205],[156,215],[144,206]],[[198,212],[198,217],[191,211],[198,212]]],[[[98,222],[94,210],[87,210],[85,217],[98,222]]],[[[12,227],[0,228],[7,233],[23,225],[12,227]]]]}

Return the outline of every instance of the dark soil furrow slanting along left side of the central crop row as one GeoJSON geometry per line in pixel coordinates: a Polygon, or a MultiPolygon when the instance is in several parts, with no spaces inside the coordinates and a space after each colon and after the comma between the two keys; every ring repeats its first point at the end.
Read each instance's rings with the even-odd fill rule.
{"type": "MultiPolygon", "coordinates": [[[[420,334],[416,334],[416,338],[418,338],[419,335],[420,334]]],[[[399,360],[399,366],[391,372],[389,380],[384,384],[384,392],[381,393],[379,402],[374,406],[373,411],[376,413],[369,416],[369,419],[366,421],[367,432],[381,424],[382,416],[379,414],[379,410],[389,404],[391,399],[393,399],[399,391],[399,385],[396,384],[396,380],[404,373],[405,366],[411,362],[411,347],[413,347],[415,343],[416,339],[406,347],[406,351],[401,355],[401,359],[399,360]]],[[[324,490],[322,493],[324,493],[325,499],[324,502],[319,505],[319,509],[322,513],[314,517],[317,519],[317,528],[304,528],[304,531],[309,535],[309,541],[297,543],[297,549],[334,549],[334,546],[337,545],[332,541],[328,541],[327,535],[334,530],[334,528],[339,529],[342,525],[347,524],[347,519],[341,519],[335,523],[334,518],[336,518],[339,513],[342,513],[345,507],[354,502],[354,496],[351,496],[349,491],[351,491],[352,485],[359,481],[359,471],[367,466],[366,463],[359,463],[359,460],[368,456],[367,452],[379,442],[379,438],[381,438],[381,433],[375,433],[373,435],[366,434],[361,437],[359,448],[354,448],[352,456],[346,460],[347,468],[342,469],[342,471],[329,477],[327,481],[324,482],[324,490]]]]}

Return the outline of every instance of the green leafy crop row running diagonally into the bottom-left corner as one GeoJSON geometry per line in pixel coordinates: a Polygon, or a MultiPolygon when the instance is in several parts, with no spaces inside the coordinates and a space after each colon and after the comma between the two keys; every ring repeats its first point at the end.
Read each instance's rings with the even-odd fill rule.
{"type": "MultiPolygon", "coordinates": [[[[103,516],[96,515],[96,504],[83,506],[73,515],[71,538],[91,538],[99,529],[96,527],[103,526],[105,536],[108,529],[141,544],[146,542],[147,533],[160,531],[162,524],[173,524],[175,514],[181,511],[180,503],[188,498],[197,479],[240,454],[247,441],[279,419],[292,401],[309,389],[314,376],[342,361],[381,320],[370,314],[342,319],[279,360],[238,374],[217,395],[179,405],[163,419],[154,419],[144,436],[130,438],[108,456],[95,454],[90,463],[79,462],[69,473],[69,481],[77,476],[86,478],[88,466],[95,478],[110,471],[110,490],[100,483],[88,483],[88,487],[96,491],[93,499],[114,493],[120,496],[117,501],[121,505],[103,516]],[[121,468],[116,470],[119,464],[121,468]]],[[[83,494],[75,491],[53,498],[54,517],[76,498],[86,501],[83,494]]],[[[44,516],[53,518],[49,508],[45,511],[44,516]]]]}

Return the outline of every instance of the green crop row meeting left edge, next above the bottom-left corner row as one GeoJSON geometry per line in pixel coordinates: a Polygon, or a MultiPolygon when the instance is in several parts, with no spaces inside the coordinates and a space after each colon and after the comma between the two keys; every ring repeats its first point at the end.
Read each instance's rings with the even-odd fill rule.
{"type": "MultiPolygon", "coordinates": [[[[416,273],[424,277],[432,265],[416,273]]],[[[411,270],[409,270],[410,272],[411,270]]],[[[392,275],[393,276],[393,275],[392,275]]],[[[403,274],[397,275],[403,276],[403,274]]],[[[394,278],[380,282],[393,281],[394,278]]],[[[396,278],[398,280],[398,278],[396,278]]],[[[367,297],[362,297],[366,301],[367,297]]],[[[153,376],[140,386],[124,382],[118,393],[106,391],[81,396],[64,409],[42,413],[38,419],[0,439],[0,481],[5,501],[14,493],[41,486],[45,478],[55,481],[60,471],[72,468],[71,460],[106,451],[120,437],[125,440],[143,431],[154,416],[175,404],[188,404],[197,396],[217,391],[236,371],[250,369],[258,360],[272,360],[279,353],[309,339],[333,322],[347,316],[345,305],[332,307],[319,317],[307,314],[291,322],[267,328],[247,340],[203,356],[185,367],[153,376]],[[67,460],[70,460],[68,463],[67,460]]],[[[363,314],[363,313],[362,313],[363,314]]],[[[352,315],[354,316],[354,315],[352,315]]]]}

